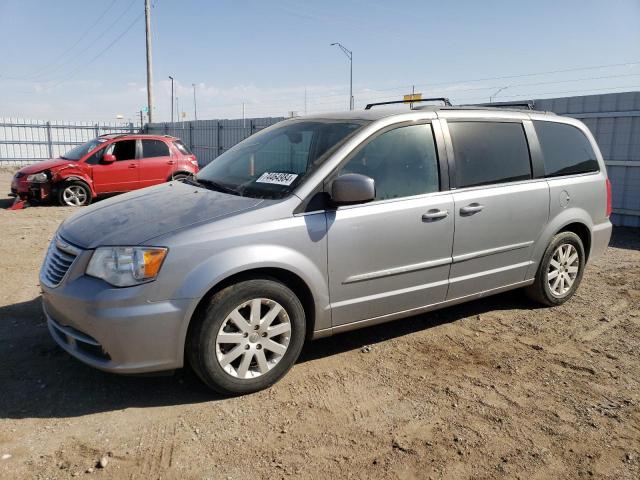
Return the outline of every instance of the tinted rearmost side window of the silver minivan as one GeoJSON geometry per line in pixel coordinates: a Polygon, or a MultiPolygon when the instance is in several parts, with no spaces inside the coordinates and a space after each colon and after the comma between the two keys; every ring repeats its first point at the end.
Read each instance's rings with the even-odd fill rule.
{"type": "Polygon", "coordinates": [[[596,154],[584,133],[573,125],[534,120],[547,177],[597,172],[596,154]]]}

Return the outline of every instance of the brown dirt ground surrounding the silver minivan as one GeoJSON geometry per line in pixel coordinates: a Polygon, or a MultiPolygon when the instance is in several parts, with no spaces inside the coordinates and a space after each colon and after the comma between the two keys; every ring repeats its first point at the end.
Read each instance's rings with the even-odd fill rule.
{"type": "Polygon", "coordinates": [[[510,292],[319,340],[220,398],[56,347],[38,269],[72,212],[0,210],[0,478],[640,478],[638,230],[561,307],[510,292]]]}

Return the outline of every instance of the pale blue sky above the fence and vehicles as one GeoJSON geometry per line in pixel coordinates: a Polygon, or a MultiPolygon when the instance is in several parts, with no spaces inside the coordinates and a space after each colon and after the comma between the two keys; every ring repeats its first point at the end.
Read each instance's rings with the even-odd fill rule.
{"type": "MultiPolygon", "coordinates": [[[[153,0],[155,119],[640,90],[640,0],[153,0]],[[597,67],[597,68],[593,68],[597,67]],[[569,70],[569,71],[566,71],[569,70]],[[558,72],[561,71],[561,72],[558,72]],[[557,73],[548,73],[557,72],[557,73]],[[535,75],[532,75],[535,74],[535,75]]],[[[146,104],[143,0],[0,0],[0,117],[115,121],[146,104]]]]}

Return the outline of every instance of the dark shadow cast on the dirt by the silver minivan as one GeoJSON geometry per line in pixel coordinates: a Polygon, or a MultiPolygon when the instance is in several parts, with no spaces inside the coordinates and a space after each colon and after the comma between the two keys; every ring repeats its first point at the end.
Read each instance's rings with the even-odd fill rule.
{"type": "MultiPolygon", "coordinates": [[[[337,355],[490,310],[534,308],[518,292],[308,342],[298,364],[337,355]]],[[[40,298],[0,307],[0,418],[69,418],[92,413],[219,401],[189,369],[121,376],[85,366],[50,338],[40,298]]]]}

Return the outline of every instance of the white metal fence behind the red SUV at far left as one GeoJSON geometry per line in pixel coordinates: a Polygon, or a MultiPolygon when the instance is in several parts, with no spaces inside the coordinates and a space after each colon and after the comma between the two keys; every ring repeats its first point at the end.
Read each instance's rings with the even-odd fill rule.
{"type": "Polygon", "coordinates": [[[0,118],[0,166],[59,157],[105,133],[133,133],[133,124],[0,118]]]}

